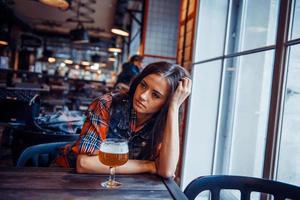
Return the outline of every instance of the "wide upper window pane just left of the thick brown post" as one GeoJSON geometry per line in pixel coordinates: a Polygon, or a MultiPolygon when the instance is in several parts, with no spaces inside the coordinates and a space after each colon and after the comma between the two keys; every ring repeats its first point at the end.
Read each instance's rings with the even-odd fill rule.
{"type": "Polygon", "coordinates": [[[279,0],[232,1],[227,53],[274,45],[279,0]]]}

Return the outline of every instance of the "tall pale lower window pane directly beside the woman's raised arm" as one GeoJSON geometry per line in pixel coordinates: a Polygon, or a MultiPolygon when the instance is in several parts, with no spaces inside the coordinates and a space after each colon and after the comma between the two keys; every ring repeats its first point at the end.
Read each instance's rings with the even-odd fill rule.
{"type": "Polygon", "coordinates": [[[215,61],[193,68],[182,170],[183,188],[194,178],[212,173],[221,66],[221,61],[215,61]]]}

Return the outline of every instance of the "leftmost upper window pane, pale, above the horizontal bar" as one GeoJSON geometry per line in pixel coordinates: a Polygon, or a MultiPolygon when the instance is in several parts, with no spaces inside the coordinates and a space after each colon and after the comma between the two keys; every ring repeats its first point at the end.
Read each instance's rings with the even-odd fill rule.
{"type": "Polygon", "coordinates": [[[223,55],[227,5],[224,0],[200,1],[195,62],[223,55]]]}

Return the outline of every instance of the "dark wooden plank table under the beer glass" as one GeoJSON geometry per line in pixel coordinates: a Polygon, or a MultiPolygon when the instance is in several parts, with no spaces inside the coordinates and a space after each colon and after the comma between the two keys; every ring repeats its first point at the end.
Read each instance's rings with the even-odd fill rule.
{"type": "Polygon", "coordinates": [[[0,168],[0,199],[187,199],[173,180],[157,175],[117,175],[118,189],[102,188],[107,178],[63,168],[0,168]]]}

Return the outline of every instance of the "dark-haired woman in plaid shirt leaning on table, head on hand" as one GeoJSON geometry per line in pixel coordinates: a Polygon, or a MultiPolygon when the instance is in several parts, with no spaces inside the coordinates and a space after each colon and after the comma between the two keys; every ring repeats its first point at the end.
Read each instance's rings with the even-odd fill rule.
{"type": "MultiPolygon", "coordinates": [[[[126,138],[129,161],[116,173],[172,177],[179,158],[179,108],[189,96],[191,84],[188,73],[179,65],[148,65],[133,80],[127,94],[106,94],[89,106],[80,138],[71,148],[75,155],[69,154],[68,161],[73,160],[74,166],[76,159],[78,173],[108,173],[97,156],[101,140],[126,138]]],[[[66,160],[61,157],[58,161],[66,160]]]]}

